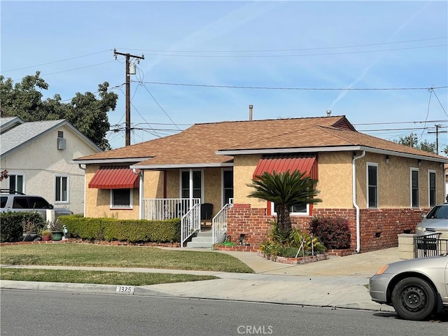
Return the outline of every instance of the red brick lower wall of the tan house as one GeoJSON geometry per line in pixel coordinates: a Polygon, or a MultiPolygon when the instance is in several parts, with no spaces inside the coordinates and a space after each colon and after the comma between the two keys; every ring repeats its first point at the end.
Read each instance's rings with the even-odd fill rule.
{"type": "MultiPolygon", "coordinates": [[[[361,209],[360,210],[360,251],[374,251],[398,246],[400,233],[413,233],[421,214],[428,209],[361,209]]],[[[349,221],[351,248],[356,248],[356,209],[314,209],[313,216],[340,216],[349,221]]],[[[250,204],[234,204],[228,209],[228,235],[239,244],[244,234],[244,242],[250,244],[246,251],[256,251],[267,239],[271,228],[269,222],[275,219],[267,215],[265,208],[252,208],[250,204]]],[[[291,216],[293,227],[307,231],[311,216],[291,216]]],[[[235,246],[237,247],[237,246],[235,246]]],[[[241,246],[242,247],[242,246],[241,246]]]]}

